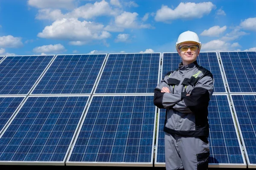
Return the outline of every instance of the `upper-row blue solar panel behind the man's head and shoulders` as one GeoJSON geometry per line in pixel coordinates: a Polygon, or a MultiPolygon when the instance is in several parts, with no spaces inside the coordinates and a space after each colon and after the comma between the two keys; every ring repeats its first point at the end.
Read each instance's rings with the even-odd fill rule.
{"type": "MultiPolygon", "coordinates": [[[[169,71],[175,71],[178,68],[181,58],[178,53],[163,53],[163,73],[162,79],[169,71]]],[[[197,58],[198,65],[211,71],[214,78],[213,92],[224,92],[226,88],[224,86],[223,76],[221,74],[221,68],[219,66],[218,57],[216,52],[201,52],[197,58]]]]}

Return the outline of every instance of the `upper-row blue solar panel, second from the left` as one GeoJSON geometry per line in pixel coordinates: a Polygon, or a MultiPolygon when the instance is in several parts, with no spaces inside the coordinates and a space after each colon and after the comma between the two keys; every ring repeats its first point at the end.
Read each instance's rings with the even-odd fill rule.
{"type": "Polygon", "coordinates": [[[90,94],[105,57],[58,55],[32,94],[90,94]]]}

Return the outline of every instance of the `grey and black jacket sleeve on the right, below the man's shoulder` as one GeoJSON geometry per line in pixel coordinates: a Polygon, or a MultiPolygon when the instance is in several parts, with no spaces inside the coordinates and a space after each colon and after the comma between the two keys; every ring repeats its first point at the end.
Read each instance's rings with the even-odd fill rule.
{"type": "Polygon", "coordinates": [[[184,96],[173,109],[181,113],[201,113],[208,108],[210,98],[213,93],[214,79],[211,76],[203,76],[195,85],[189,96],[184,96]]]}

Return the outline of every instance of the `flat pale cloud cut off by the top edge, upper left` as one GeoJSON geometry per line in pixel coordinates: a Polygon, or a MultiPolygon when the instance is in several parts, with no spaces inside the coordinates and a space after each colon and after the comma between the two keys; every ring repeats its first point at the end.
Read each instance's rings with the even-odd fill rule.
{"type": "Polygon", "coordinates": [[[74,7],[75,0],[28,0],[28,5],[35,8],[66,8],[74,7]]]}

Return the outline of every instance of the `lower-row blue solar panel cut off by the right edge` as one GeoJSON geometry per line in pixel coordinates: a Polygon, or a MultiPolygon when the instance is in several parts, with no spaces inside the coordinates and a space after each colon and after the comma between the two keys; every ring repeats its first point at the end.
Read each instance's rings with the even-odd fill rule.
{"type": "Polygon", "coordinates": [[[256,95],[232,95],[248,167],[256,167],[256,95]]]}

